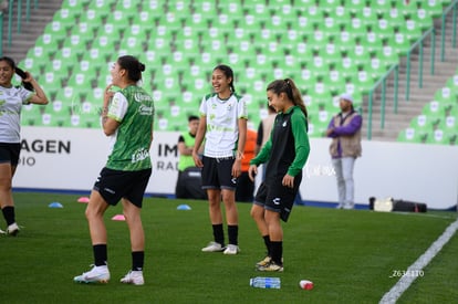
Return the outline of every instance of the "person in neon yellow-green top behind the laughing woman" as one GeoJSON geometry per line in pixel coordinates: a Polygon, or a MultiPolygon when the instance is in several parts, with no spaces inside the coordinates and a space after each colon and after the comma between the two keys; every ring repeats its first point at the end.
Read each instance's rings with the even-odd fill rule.
{"type": "Polygon", "coordinates": [[[201,169],[196,167],[192,159],[192,148],[196,141],[199,117],[188,117],[188,130],[178,138],[178,178],[175,197],[178,199],[207,199],[201,189],[201,169]]]}

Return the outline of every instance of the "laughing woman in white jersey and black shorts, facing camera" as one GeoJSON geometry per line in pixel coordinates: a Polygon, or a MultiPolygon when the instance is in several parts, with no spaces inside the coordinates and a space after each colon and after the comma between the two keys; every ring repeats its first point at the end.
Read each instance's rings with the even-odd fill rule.
{"type": "Polygon", "coordinates": [[[211,84],[215,93],[205,96],[200,104],[200,123],[192,149],[197,167],[202,167],[202,189],[207,190],[210,221],[215,241],[204,252],[237,254],[239,218],[236,206],[237,178],[241,174],[247,138],[247,105],[236,94],[233,72],[227,65],[214,69],[211,84]],[[202,159],[198,151],[205,137],[202,159]],[[221,199],[226,209],[229,244],[225,245],[221,199]]]}

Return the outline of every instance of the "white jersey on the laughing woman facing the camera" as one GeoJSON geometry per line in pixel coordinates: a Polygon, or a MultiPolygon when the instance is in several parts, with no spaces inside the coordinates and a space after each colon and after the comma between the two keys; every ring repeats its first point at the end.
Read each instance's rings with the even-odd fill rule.
{"type": "Polygon", "coordinates": [[[239,140],[238,120],[248,118],[244,98],[235,93],[227,99],[220,99],[216,93],[209,94],[202,98],[199,112],[207,122],[204,155],[212,158],[233,156],[239,140]]]}

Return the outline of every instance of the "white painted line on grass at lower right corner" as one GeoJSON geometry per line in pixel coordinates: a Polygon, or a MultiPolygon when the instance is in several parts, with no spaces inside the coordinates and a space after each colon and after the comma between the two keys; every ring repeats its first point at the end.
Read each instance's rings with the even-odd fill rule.
{"type": "Polygon", "coordinates": [[[394,285],[389,292],[385,293],[385,295],[381,300],[381,304],[386,303],[396,303],[396,301],[400,297],[400,295],[410,286],[410,284],[417,279],[416,275],[434,259],[434,256],[439,253],[443,247],[454,237],[455,232],[458,230],[458,220],[450,223],[444,233],[428,248],[428,250],[418,258],[415,263],[413,263],[407,271],[405,272],[407,275],[400,276],[399,281],[397,281],[396,285],[394,285]],[[408,275],[415,274],[415,275],[408,275]]]}

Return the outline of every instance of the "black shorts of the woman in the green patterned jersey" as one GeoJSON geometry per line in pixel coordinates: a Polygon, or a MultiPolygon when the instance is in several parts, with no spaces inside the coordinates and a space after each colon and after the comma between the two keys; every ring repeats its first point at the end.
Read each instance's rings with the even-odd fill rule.
{"type": "Polygon", "coordinates": [[[140,171],[121,171],[103,168],[94,184],[103,199],[115,206],[122,198],[142,208],[143,196],[148,185],[152,169],[140,171]]]}

